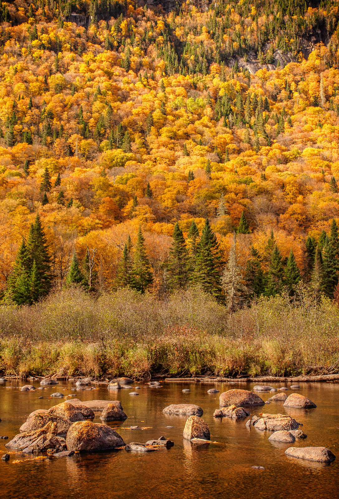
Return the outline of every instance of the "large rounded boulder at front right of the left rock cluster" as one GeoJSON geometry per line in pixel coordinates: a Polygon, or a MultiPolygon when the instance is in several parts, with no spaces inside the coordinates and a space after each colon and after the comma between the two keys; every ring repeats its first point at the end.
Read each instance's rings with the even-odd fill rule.
{"type": "Polygon", "coordinates": [[[73,423],[67,432],[68,451],[104,451],[124,446],[121,436],[112,428],[92,421],[73,423]]]}

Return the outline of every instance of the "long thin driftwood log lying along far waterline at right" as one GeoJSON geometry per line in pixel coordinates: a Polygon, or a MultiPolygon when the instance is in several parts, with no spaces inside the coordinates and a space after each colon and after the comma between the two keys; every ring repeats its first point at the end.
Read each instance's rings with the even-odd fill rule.
{"type": "Polygon", "coordinates": [[[222,381],[224,383],[243,383],[248,381],[339,381],[339,374],[321,374],[319,376],[286,376],[286,377],[276,377],[276,376],[257,376],[255,378],[245,377],[245,378],[222,378],[222,377],[194,377],[194,378],[166,378],[164,381],[167,383],[214,383],[215,381],[222,381]]]}

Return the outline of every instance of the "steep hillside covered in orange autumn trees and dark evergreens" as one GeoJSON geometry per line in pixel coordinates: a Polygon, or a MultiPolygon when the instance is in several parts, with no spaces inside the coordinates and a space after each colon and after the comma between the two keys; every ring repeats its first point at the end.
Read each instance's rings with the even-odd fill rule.
{"type": "Polygon", "coordinates": [[[339,2],[0,4],[0,287],[337,296],[339,2]]]}

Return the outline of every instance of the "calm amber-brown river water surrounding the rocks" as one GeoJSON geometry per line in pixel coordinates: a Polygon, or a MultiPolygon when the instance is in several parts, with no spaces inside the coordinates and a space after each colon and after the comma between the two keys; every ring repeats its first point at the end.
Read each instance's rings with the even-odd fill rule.
{"type": "MultiPolygon", "coordinates": [[[[141,390],[138,397],[129,396],[129,390],[112,393],[105,388],[71,392],[71,386],[66,383],[35,392],[6,388],[23,384],[6,382],[0,385],[0,435],[7,435],[9,439],[19,433],[20,425],[30,412],[63,402],[62,399],[48,398],[51,393],[60,391],[76,393],[80,400],[119,399],[129,418],[112,426],[126,443],[146,442],[164,435],[173,440],[174,447],[146,454],[123,450],[75,454],[59,460],[36,460],[21,453],[11,454],[8,463],[0,461],[0,490],[1,496],[6,499],[339,498],[337,384],[301,383],[298,393],[313,400],[317,409],[284,408],[283,402],[276,402],[251,410],[251,417],[264,411],[288,414],[302,422],[302,429],[308,438],[292,445],[330,448],[337,460],[329,466],[285,456],[284,452],[290,445],[271,443],[268,440],[270,433],[247,429],[245,423],[248,418],[237,422],[213,418],[219,394],[208,394],[209,388],[216,387],[220,392],[231,388],[250,390],[255,383],[163,383],[161,388],[139,384],[141,390]],[[67,390],[63,391],[65,388],[67,390]],[[182,393],[183,388],[190,388],[190,393],[182,393]],[[44,398],[38,400],[41,395],[44,398]],[[202,417],[209,426],[211,440],[216,443],[196,445],[183,440],[186,418],[170,417],[162,412],[169,404],[178,403],[202,407],[202,417]],[[124,429],[136,425],[150,428],[137,431],[124,429]],[[24,459],[25,462],[13,464],[15,459],[24,459]],[[252,466],[263,466],[265,471],[253,470],[252,466]]],[[[273,383],[272,386],[279,388],[284,383],[273,383]]],[[[262,398],[267,400],[272,395],[262,394],[262,398]]],[[[100,413],[96,413],[95,422],[101,422],[99,416],[100,413]]],[[[8,452],[4,447],[8,441],[0,440],[0,455],[8,452]]]]}

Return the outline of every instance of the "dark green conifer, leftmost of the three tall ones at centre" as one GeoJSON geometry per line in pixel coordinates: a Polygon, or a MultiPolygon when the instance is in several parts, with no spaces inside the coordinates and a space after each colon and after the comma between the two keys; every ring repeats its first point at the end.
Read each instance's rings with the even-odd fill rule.
{"type": "Polygon", "coordinates": [[[174,226],[167,269],[170,287],[172,289],[183,289],[188,281],[188,251],[178,223],[174,226]]]}

